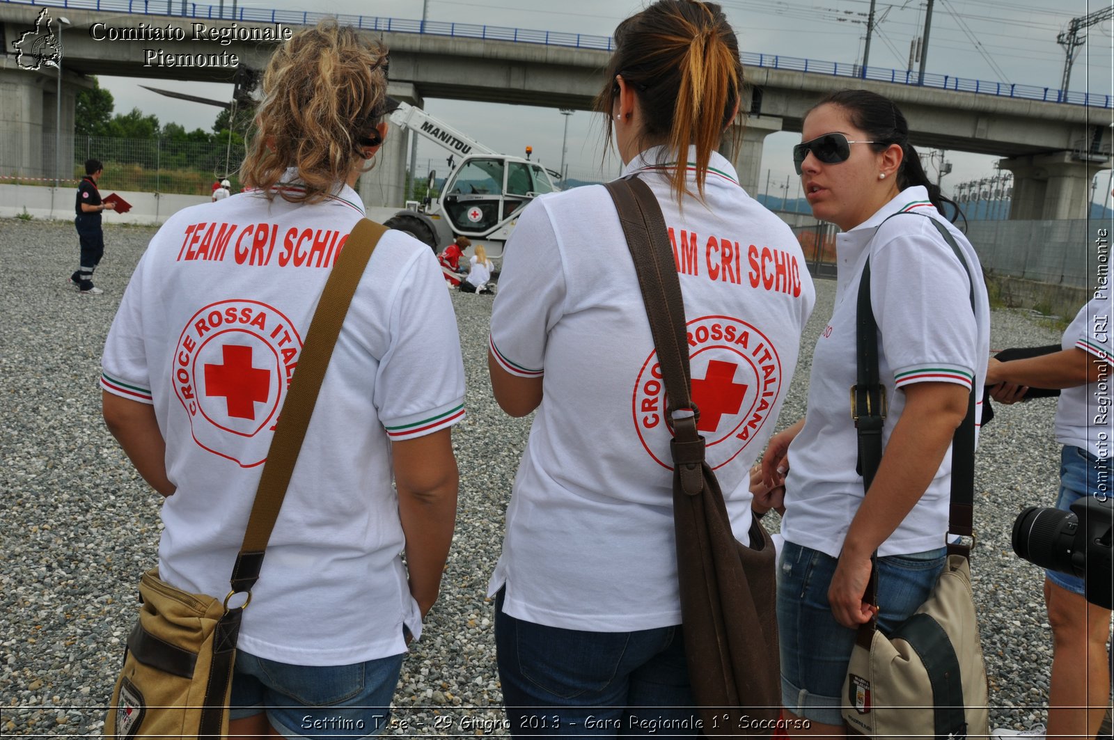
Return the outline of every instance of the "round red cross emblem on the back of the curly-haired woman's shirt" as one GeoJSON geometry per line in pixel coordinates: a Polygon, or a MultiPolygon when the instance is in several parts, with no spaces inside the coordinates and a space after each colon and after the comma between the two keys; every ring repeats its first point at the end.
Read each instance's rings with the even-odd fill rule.
{"type": "Polygon", "coordinates": [[[175,350],[175,392],[194,441],[243,467],[266,459],[302,339],[277,309],[222,301],[195,313],[175,350]]]}

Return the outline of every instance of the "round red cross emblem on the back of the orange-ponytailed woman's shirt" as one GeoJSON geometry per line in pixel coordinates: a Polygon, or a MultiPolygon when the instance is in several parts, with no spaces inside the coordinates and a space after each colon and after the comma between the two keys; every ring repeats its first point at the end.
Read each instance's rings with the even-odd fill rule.
{"type": "MultiPolygon", "coordinates": [[[[703,317],[685,329],[692,398],[700,409],[696,429],[705,438],[709,465],[719,468],[739,456],[775,408],[781,360],[765,334],[739,319],[703,317]]],[[[653,352],[635,381],[632,420],[646,452],[672,469],[667,401],[653,352]]]]}

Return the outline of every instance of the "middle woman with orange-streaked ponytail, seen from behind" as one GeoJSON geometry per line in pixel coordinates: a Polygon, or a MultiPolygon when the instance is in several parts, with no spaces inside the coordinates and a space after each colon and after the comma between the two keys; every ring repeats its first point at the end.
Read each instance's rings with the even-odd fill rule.
{"type": "MultiPolygon", "coordinates": [[[[792,379],[812,282],[792,232],[716,152],[742,85],[720,7],[661,0],[620,23],[615,45],[597,109],[624,176],[665,217],[698,429],[745,542],[747,468],[792,379]]],[[[511,733],[695,734],[670,423],[618,215],[603,186],[544,195],[511,242],[491,386],[511,416],[537,410],[489,585],[511,733]]]]}

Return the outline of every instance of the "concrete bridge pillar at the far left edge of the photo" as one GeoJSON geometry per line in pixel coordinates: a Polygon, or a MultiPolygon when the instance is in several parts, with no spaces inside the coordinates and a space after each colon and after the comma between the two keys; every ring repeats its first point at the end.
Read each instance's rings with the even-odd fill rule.
{"type": "MultiPolygon", "coordinates": [[[[63,70],[65,71],[65,70],[63,70]]],[[[0,175],[74,178],[74,103],[85,87],[62,76],[61,137],[55,172],[58,118],[57,70],[0,67],[0,175]]]]}

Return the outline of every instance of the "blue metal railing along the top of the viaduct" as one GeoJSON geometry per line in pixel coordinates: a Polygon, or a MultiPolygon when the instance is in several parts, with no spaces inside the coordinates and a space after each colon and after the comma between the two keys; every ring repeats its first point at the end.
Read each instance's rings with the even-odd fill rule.
{"type": "MultiPolygon", "coordinates": [[[[183,0],[0,0],[12,4],[46,6],[50,8],[72,8],[77,10],[101,10],[144,16],[174,16],[221,20],[222,9],[218,6],[185,2],[183,0]],[[183,12],[185,6],[185,12],[183,12]]],[[[400,18],[380,18],[377,16],[334,16],[297,10],[268,10],[265,8],[236,9],[232,13],[232,0],[226,0],[223,20],[256,23],[285,23],[289,26],[313,26],[324,18],[336,18],[344,26],[369,31],[391,31],[395,33],[428,33],[431,36],[450,36],[468,39],[485,39],[492,41],[512,41],[518,43],[541,43],[547,46],[573,47],[577,49],[597,49],[610,51],[615,48],[613,39],[606,36],[587,33],[565,33],[559,31],[537,31],[502,26],[486,26],[478,23],[450,23],[443,21],[420,21],[400,18]]],[[[1064,103],[1068,105],[1089,106],[1093,108],[1114,108],[1114,96],[1093,93],[1074,93],[1053,87],[1033,85],[1015,85],[1010,82],[994,82],[968,79],[950,75],[926,74],[924,80],[918,72],[903,69],[887,69],[883,67],[861,67],[838,61],[820,61],[770,53],[742,55],[744,65],[766,69],[786,69],[812,75],[829,75],[832,77],[849,77],[868,79],[896,85],[929,87],[941,90],[974,93],[997,97],[1017,98],[1023,100],[1040,100],[1043,103],[1064,103]]]]}

